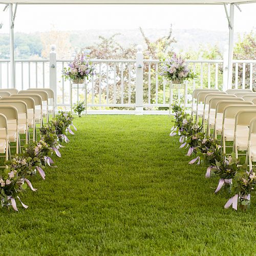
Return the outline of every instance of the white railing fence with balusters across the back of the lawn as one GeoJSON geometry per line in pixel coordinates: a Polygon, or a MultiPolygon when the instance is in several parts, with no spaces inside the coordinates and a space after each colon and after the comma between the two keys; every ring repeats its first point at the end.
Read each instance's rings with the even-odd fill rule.
{"type": "MultiPolygon", "coordinates": [[[[142,54],[142,53],[141,53],[142,54]]],[[[55,55],[56,58],[56,55],[55,55]]],[[[61,71],[72,60],[15,60],[16,88],[51,87],[57,95],[59,108],[70,106],[70,81],[62,78],[61,71]],[[54,64],[52,66],[52,61],[54,64]],[[50,67],[51,63],[51,67],[50,67]],[[55,76],[54,84],[50,81],[55,76]]],[[[195,88],[226,90],[226,67],[223,60],[188,60],[189,67],[198,74],[187,82],[187,91],[172,90],[161,75],[161,62],[154,59],[92,59],[96,75],[87,81],[89,110],[166,110],[171,102],[191,103],[195,88]],[[224,68],[223,68],[224,66],[224,68]],[[224,70],[223,70],[224,69],[224,70]],[[137,83],[136,83],[137,81],[137,83]],[[223,82],[224,81],[224,82],[223,82]],[[137,97],[141,94],[141,97],[137,97]],[[137,102],[136,102],[137,101],[137,102]],[[140,102],[141,101],[141,102],[140,102]]],[[[256,60],[234,60],[232,88],[256,87],[256,60]]],[[[10,62],[0,60],[0,88],[9,88],[10,62]]],[[[86,97],[85,90],[73,92],[73,102],[86,97]]]]}

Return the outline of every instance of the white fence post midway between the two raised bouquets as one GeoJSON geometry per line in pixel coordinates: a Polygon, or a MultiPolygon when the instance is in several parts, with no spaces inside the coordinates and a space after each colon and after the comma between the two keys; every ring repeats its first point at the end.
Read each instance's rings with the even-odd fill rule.
{"type": "Polygon", "coordinates": [[[143,115],[143,53],[142,46],[137,46],[136,53],[136,99],[135,114],[143,115]]]}

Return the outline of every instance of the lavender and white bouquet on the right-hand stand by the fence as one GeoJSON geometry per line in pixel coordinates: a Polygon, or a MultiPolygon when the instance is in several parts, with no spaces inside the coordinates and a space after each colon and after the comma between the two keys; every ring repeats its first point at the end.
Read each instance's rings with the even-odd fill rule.
{"type": "Polygon", "coordinates": [[[175,53],[172,58],[164,61],[161,75],[173,83],[183,83],[195,79],[196,75],[188,68],[185,60],[175,53]]]}

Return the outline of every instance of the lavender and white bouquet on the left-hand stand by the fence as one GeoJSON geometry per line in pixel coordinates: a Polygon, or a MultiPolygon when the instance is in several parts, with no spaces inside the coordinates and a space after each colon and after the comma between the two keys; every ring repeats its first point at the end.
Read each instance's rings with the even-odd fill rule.
{"type": "Polygon", "coordinates": [[[87,59],[84,53],[78,53],[68,68],[62,70],[62,77],[66,80],[73,80],[74,83],[83,83],[84,79],[89,79],[94,75],[94,66],[87,59]]]}

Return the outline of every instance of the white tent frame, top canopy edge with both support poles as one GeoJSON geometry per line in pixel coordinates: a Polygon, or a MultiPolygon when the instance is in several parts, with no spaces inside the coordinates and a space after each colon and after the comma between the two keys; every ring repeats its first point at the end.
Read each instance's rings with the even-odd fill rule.
{"type": "MultiPolygon", "coordinates": [[[[33,4],[141,4],[141,5],[223,5],[225,8],[228,27],[229,27],[229,44],[228,44],[228,66],[224,67],[228,69],[228,77],[223,84],[223,89],[231,88],[232,83],[232,62],[233,62],[233,23],[234,23],[234,6],[239,8],[239,4],[250,4],[256,3],[256,0],[0,0],[0,4],[6,4],[9,6],[10,11],[10,63],[11,63],[11,83],[12,87],[15,88],[15,62],[14,62],[14,39],[13,39],[13,28],[14,19],[16,15],[17,6],[21,5],[33,5],[33,4]],[[230,5],[229,13],[227,5],[230,5]]],[[[5,8],[6,9],[6,8],[5,8]]]]}

